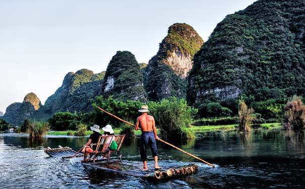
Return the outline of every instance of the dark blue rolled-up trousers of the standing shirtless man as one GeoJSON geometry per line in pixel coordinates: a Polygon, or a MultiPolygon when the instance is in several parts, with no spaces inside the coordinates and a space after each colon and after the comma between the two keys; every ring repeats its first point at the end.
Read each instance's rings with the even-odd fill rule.
{"type": "Polygon", "coordinates": [[[141,144],[140,144],[140,151],[141,151],[141,160],[147,160],[147,146],[150,147],[152,156],[159,156],[157,151],[156,139],[153,131],[149,132],[142,132],[141,135],[141,144]]]}

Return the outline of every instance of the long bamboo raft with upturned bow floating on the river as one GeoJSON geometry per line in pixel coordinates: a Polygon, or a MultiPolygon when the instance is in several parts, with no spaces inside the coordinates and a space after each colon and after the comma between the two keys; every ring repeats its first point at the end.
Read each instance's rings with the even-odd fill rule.
{"type": "MultiPolygon", "coordinates": [[[[76,151],[72,150],[69,147],[61,147],[51,149],[47,148],[44,150],[51,157],[60,158],[60,159],[68,159],[71,158],[76,151]]],[[[79,154],[76,157],[82,157],[83,154],[79,154]]],[[[125,160],[118,160],[118,159],[110,159],[109,162],[106,160],[93,160],[82,162],[83,165],[103,169],[107,171],[117,172],[120,174],[132,175],[136,177],[144,177],[147,179],[153,180],[166,180],[171,178],[179,178],[185,175],[193,174],[198,171],[198,165],[195,163],[188,164],[188,165],[180,165],[180,166],[162,166],[161,169],[155,170],[154,169],[154,162],[150,161],[147,162],[149,170],[142,170],[140,167],[143,167],[142,162],[132,162],[132,161],[125,161],[125,160]]]]}

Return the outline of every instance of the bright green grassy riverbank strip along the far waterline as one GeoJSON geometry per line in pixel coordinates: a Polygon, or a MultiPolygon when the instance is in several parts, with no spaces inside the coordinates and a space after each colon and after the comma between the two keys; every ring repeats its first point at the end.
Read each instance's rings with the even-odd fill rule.
{"type": "MultiPolygon", "coordinates": [[[[251,125],[253,129],[264,129],[264,130],[279,130],[282,128],[281,123],[262,123],[262,124],[253,124],[251,125]]],[[[228,125],[202,125],[202,126],[193,126],[190,130],[194,133],[203,133],[203,132],[213,132],[213,131],[235,131],[238,129],[238,124],[228,124],[228,125]]],[[[120,129],[113,130],[115,134],[120,133],[120,129]]],[[[48,135],[66,135],[68,132],[72,132],[73,135],[76,131],[49,131],[48,135]]],[[[92,134],[92,131],[87,131],[86,136],[92,134]]],[[[135,131],[136,135],[141,135],[141,131],[135,131]]],[[[157,129],[157,134],[160,134],[160,130],[157,129]]]]}

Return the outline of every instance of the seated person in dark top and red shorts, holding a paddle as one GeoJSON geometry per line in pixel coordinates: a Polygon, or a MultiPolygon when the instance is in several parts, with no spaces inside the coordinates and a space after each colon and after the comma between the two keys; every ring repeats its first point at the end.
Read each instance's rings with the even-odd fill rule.
{"type": "MultiPolygon", "coordinates": [[[[89,141],[84,145],[83,151],[84,152],[84,161],[87,160],[87,156],[89,153],[93,153],[95,148],[96,148],[96,144],[98,141],[98,137],[102,136],[99,132],[101,132],[101,130],[99,129],[99,125],[94,124],[93,127],[90,127],[91,131],[93,131],[93,134],[90,135],[89,137],[89,141]],[[89,146],[91,145],[91,147],[89,146]]],[[[90,160],[90,158],[89,158],[90,160]]]]}

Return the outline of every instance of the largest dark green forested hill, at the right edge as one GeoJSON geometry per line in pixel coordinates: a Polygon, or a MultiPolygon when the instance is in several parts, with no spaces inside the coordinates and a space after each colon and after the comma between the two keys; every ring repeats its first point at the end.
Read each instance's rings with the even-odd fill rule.
{"type": "Polygon", "coordinates": [[[257,1],[226,16],[194,56],[188,102],[305,94],[305,1],[257,1]]]}

